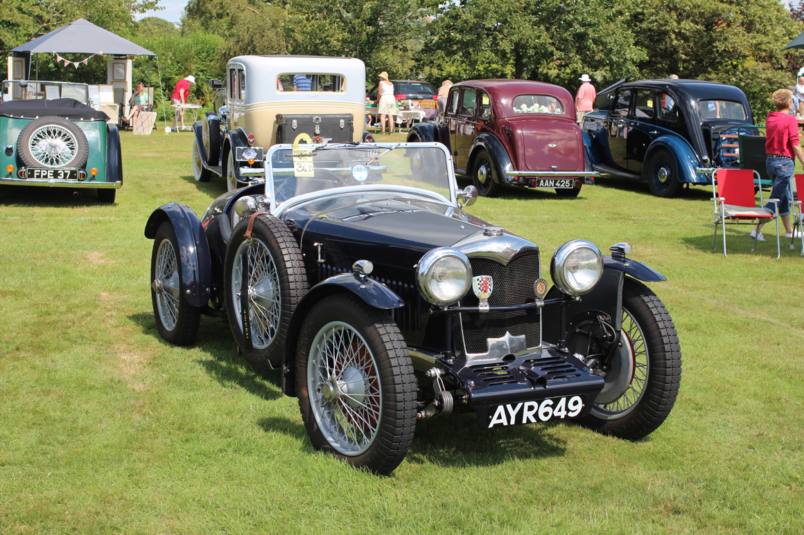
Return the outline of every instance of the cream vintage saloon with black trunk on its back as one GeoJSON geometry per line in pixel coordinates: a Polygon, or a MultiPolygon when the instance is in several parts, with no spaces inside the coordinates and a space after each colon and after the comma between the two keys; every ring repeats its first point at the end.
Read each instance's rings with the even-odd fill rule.
{"type": "Polygon", "coordinates": [[[373,141],[366,122],[366,66],[355,58],[301,55],[240,55],[229,60],[227,80],[213,112],[193,126],[193,175],[215,174],[229,191],[265,178],[263,152],[312,141],[373,141]],[[300,139],[304,139],[302,136],[300,139]]]}

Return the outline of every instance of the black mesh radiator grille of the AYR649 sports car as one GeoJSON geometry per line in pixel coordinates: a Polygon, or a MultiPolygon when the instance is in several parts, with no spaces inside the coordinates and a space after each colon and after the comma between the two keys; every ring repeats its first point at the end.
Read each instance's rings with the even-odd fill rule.
{"type": "MultiPolygon", "coordinates": [[[[539,253],[533,252],[511,260],[507,266],[490,259],[472,258],[472,275],[490,275],[494,279],[494,291],[489,305],[532,303],[533,283],[539,278],[539,253]]],[[[461,306],[476,307],[479,304],[474,292],[461,300],[461,306]]],[[[486,353],[486,338],[499,338],[505,333],[525,335],[527,347],[541,343],[541,312],[539,309],[512,312],[462,312],[461,326],[467,353],[486,353]]]]}

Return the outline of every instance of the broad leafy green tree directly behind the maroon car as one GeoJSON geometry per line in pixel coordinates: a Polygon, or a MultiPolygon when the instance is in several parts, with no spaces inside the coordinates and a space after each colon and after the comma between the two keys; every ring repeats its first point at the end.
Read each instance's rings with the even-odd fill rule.
{"type": "MultiPolygon", "coordinates": [[[[429,6],[420,61],[433,78],[521,78],[574,87],[636,76],[645,59],[616,0],[460,0],[429,6]]],[[[433,80],[436,81],[436,80],[433,80]]]]}

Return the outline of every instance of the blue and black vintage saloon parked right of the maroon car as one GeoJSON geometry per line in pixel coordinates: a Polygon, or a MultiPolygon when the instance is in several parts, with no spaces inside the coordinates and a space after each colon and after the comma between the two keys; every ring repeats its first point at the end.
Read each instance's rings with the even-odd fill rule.
{"type": "MultiPolygon", "coordinates": [[[[698,80],[618,83],[584,116],[593,169],[646,180],[658,197],[711,184],[712,170],[740,165],[735,141],[756,133],[745,93],[698,80]]],[[[763,155],[764,156],[764,155],[763,155]]]]}

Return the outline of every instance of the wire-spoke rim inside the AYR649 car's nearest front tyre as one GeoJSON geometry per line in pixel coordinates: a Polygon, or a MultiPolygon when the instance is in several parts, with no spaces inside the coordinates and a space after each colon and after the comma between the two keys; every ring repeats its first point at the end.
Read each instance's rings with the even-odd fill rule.
{"type": "Polygon", "coordinates": [[[379,429],[383,398],[371,349],[350,325],[334,321],[314,338],[307,366],[310,406],[326,441],[360,455],[379,429]]]}

